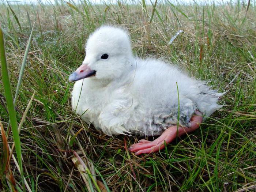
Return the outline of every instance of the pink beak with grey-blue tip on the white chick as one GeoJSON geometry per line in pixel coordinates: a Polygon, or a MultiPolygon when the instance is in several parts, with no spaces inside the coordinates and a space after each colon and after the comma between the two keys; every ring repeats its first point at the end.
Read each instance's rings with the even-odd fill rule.
{"type": "Polygon", "coordinates": [[[84,79],[90,76],[95,76],[95,74],[96,74],[96,71],[91,70],[88,65],[82,64],[78,69],[76,69],[74,73],[72,73],[69,76],[68,81],[69,82],[78,81],[80,79],[84,79]]]}

